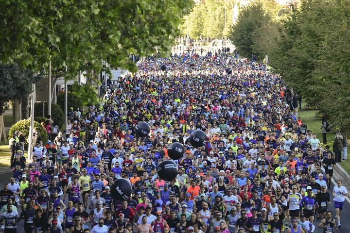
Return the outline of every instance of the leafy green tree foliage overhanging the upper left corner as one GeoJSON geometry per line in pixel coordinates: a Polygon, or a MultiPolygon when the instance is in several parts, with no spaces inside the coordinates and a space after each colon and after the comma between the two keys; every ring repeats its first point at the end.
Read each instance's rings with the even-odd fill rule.
{"type": "Polygon", "coordinates": [[[79,70],[106,69],[102,61],[136,71],[130,53],[168,53],[192,6],[192,0],[4,1],[0,61],[36,73],[54,56],[53,67],[68,66],[70,79],[79,70]]]}

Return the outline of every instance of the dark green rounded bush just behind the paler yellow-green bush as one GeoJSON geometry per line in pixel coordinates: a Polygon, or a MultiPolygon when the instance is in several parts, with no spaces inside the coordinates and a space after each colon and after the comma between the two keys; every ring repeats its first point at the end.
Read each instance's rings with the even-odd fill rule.
{"type": "MultiPolygon", "coordinates": [[[[49,108],[48,108],[48,104],[47,102],[45,102],[45,117],[42,117],[42,107],[43,107],[43,104],[42,102],[36,102],[35,103],[35,108],[34,108],[34,116],[35,117],[40,117],[39,119],[41,121],[38,121],[38,122],[42,122],[44,120],[42,120],[43,118],[45,117],[48,117],[48,111],[49,111],[49,108]]],[[[53,103],[51,105],[51,118],[53,119],[53,125],[58,125],[58,127],[61,128],[61,126],[63,125],[64,123],[64,120],[65,120],[65,116],[64,116],[64,113],[62,111],[62,109],[60,108],[60,106],[58,104],[55,104],[53,103]]]]}

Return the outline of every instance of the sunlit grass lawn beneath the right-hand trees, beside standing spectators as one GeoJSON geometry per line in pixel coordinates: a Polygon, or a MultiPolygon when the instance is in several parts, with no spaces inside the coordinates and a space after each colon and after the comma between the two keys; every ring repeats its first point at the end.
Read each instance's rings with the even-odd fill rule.
{"type": "MultiPolygon", "coordinates": [[[[327,144],[324,145],[322,143],[322,131],[320,129],[320,124],[322,119],[316,117],[317,110],[313,109],[305,109],[304,107],[302,109],[299,109],[299,116],[302,120],[305,120],[305,124],[308,126],[308,129],[311,130],[313,133],[317,134],[317,138],[320,140],[322,147],[325,147],[326,145],[330,146],[330,149],[333,149],[333,142],[334,142],[334,135],[335,132],[327,133],[327,144]]],[[[350,153],[350,147],[348,147],[348,154],[350,153]]],[[[350,161],[345,160],[341,162],[339,165],[341,165],[348,173],[350,173],[350,161]]]]}

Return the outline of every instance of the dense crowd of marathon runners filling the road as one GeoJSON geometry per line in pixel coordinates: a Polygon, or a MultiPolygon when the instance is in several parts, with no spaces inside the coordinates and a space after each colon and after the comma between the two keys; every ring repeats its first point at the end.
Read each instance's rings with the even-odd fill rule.
{"type": "Polygon", "coordinates": [[[228,56],[149,57],[138,73],[108,80],[99,105],[71,109],[66,131],[37,141],[28,166],[18,150],[0,191],[5,233],[19,221],[25,233],[338,230],[348,192],[341,181],[331,189],[333,152],[293,111],[278,75],[228,56]],[[147,138],[135,135],[140,121],[147,138]],[[207,142],[194,149],[187,139],[197,129],[207,142]],[[186,152],[165,182],[157,165],[175,141],[186,152]],[[111,196],[119,178],[133,186],[128,200],[111,196]]]}

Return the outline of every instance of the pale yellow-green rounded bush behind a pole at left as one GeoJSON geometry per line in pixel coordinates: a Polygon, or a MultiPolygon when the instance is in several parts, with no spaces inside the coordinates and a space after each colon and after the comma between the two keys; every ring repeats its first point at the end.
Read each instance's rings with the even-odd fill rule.
{"type": "MultiPolygon", "coordinates": [[[[25,147],[28,148],[28,136],[29,136],[29,128],[30,128],[30,119],[20,120],[16,124],[14,124],[9,131],[8,138],[12,138],[12,135],[18,130],[23,132],[25,137],[25,147]]],[[[44,127],[37,122],[34,121],[34,132],[39,132],[39,136],[44,144],[47,143],[48,137],[44,127]]]]}

